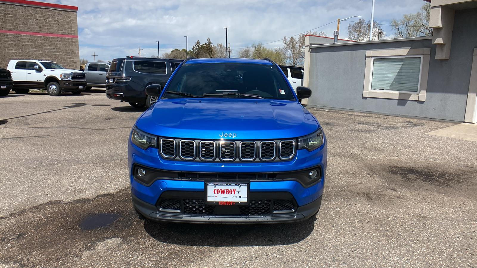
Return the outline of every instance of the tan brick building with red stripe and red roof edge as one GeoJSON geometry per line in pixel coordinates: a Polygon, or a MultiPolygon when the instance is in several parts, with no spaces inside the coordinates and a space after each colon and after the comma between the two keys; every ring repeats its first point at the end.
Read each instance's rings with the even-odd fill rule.
{"type": "Polygon", "coordinates": [[[0,67],[13,59],[54,61],[80,68],[77,7],[0,0],[0,67]]]}

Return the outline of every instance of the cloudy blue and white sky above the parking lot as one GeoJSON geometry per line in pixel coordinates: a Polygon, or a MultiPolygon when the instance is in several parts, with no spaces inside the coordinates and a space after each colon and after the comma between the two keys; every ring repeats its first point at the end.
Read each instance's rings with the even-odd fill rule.
{"type": "MultiPolygon", "coordinates": [[[[40,0],[78,7],[80,58],[93,61],[112,60],[126,55],[150,57],[172,49],[188,48],[208,37],[225,43],[223,27],[228,27],[228,42],[233,54],[254,42],[281,46],[284,36],[306,32],[338,18],[360,15],[371,20],[372,0],[40,0]]],[[[376,0],[374,20],[390,24],[393,18],[415,13],[423,0],[376,0]]],[[[357,21],[357,18],[350,21],[357,21]]],[[[340,38],[347,38],[349,22],[340,25],[340,38]]],[[[383,25],[388,37],[389,26],[383,25]]],[[[336,22],[314,31],[325,31],[329,37],[336,22]]]]}

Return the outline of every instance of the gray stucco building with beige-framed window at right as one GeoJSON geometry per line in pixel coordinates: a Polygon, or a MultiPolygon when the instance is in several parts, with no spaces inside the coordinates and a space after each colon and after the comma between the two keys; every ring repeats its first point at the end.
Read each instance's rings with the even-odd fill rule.
{"type": "Polygon", "coordinates": [[[477,0],[432,0],[428,37],[314,45],[311,107],[477,122],[477,0]]]}

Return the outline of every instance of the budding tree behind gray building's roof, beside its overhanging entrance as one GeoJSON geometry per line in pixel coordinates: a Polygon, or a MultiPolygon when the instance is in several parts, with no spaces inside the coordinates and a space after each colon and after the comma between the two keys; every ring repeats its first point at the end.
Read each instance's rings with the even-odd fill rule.
{"type": "Polygon", "coordinates": [[[396,38],[432,35],[432,28],[429,27],[430,12],[431,4],[426,3],[415,14],[405,14],[400,20],[391,20],[396,38]]]}

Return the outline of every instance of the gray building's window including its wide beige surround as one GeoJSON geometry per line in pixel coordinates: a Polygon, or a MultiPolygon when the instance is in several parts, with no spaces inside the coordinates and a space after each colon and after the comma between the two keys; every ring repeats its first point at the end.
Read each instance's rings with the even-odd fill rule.
{"type": "Polygon", "coordinates": [[[366,52],[363,97],[425,101],[430,48],[366,52]]]}

